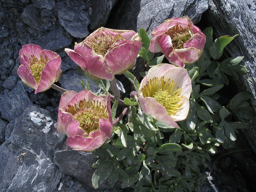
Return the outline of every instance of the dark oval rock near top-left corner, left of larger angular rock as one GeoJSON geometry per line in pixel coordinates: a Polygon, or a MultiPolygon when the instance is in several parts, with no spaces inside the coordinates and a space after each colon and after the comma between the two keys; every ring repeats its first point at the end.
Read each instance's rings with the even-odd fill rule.
{"type": "Polygon", "coordinates": [[[20,15],[21,20],[32,29],[39,29],[41,26],[40,10],[34,5],[27,5],[20,15]]]}

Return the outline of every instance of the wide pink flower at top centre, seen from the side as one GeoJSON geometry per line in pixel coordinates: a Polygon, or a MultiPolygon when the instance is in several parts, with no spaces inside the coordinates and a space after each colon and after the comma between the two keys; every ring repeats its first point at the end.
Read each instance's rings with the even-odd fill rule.
{"type": "Polygon", "coordinates": [[[115,74],[122,74],[134,65],[141,38],[131,30],[99,28],[74,50],[65,49],[69,57],[93,77],[113,80],[115,74]]]}

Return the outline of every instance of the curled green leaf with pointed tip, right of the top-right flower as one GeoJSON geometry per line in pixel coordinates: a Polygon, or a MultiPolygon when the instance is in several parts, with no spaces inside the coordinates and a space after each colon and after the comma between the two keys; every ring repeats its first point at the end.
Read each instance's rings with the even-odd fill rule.
{"type": "Polygon", "coordinates": [[[229,44],[234,38],[238,36],[235,35],[233,37],[230,36],[221,36],[217,38],[213,45],[209,48],[209,52],[213,59],[217,60],[221,57],[223,53],[223,49],[226,47],[227,44],[229,44]]]}

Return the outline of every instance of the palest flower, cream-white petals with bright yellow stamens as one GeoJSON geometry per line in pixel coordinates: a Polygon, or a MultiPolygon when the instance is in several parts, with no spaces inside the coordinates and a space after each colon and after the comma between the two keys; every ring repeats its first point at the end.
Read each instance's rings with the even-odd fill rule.
{"type": "Polygon", "coordinates": [[[190,93],[187,70],[162,63],[149,69],[141,81],[138,100],[147,116],[178,128],[175,121],[188,116],[190,93]]]}

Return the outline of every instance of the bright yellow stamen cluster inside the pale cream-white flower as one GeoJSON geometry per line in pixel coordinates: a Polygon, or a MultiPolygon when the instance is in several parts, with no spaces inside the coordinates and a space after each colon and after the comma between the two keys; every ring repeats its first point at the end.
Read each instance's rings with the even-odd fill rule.
{"type": "Polygon", "coordinates": [[[153,97],[158,103],[164,106],[170,115],[175,115],[181,110],[182,103],[181,88],[176,86],[170,78],[164,81],[164,76],[159,80],[158,77],[150,79],[142,88],[144,97],[153,97]]]}

